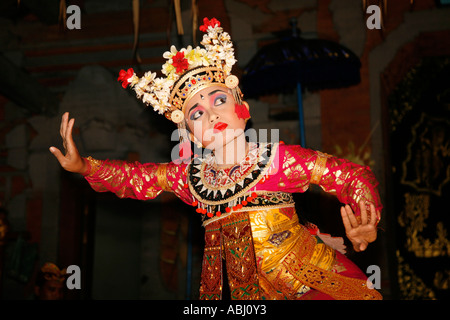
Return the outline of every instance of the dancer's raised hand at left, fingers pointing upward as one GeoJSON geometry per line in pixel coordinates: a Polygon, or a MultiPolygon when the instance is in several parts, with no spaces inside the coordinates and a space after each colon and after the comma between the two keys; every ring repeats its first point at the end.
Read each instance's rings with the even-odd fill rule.
{"type": "Polygon", "coordinates": [[[75,173],[84,173],[86,171],[86,164],[78,153],[78,149],[72,138],[72,129],[75,123],[75,119],[70,119],[69,113],[63,114],[61,119],[61,127],[59,133],[61,134],[63,140],[63,146],[65,150],[65,155],[55,147],[50,147],[50,152],[58,159],[61,167],[65,170],[75,173]]]}

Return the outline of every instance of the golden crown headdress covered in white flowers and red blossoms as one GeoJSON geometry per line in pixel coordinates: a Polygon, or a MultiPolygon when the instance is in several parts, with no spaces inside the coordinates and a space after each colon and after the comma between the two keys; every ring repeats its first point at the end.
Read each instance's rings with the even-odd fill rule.
{"type": "Polygon", "coordinates": [[[163,54],[167,59],[161,70],[165,77],[157,78],[149,71],[139,78],[130,68],[121,70],[118,78],[124,88],[131,86],[146,105],[177,124],[184,120],[184,103],[206,86],[223,85],[234,90],[238,101],[241,97],[239,81],[230,74],[236,63],[230,35],[215,18],[204,18],[200,31],[206,32],[200,42],[204,48],[177,50],[171,46],[163,54]]]}

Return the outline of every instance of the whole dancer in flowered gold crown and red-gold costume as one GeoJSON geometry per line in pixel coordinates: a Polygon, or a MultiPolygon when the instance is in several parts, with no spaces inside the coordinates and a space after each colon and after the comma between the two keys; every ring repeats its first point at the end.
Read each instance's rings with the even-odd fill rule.
{"type": "Polygon", "coordinates": [[[214,18],[200,30],[204,48],[172,46],[163,77],[139,78],[132,69],[119,76],[177,125],[179,158],[141,164],[81,157],[67,113],[60,129],[65,154],[50,151],[98,192],[146,200],[167,191],[195,207],[205,227],[200,299],[224,298],[224,286],[231,299],[381,299],[355,264],[299,223],[292,197],[310,184],[335,195],[344,204],[347,237],[365,250],[382,209],[371,170],[301,146],[251,141],[244,131],[250,108],[231,74],[230,36],[214,18]]]}

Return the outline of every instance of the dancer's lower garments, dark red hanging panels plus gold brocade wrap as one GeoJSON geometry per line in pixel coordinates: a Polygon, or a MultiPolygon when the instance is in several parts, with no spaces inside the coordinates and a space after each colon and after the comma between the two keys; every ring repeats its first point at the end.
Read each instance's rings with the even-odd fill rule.
{"type": "Polygon", "coordinates": [[[298,222],[294,207],[245,211],[206,226],[200,298],[221,299],[225,259],[232,299],[381,299],[366,281],[331,271],[335,251],[298,222]],[[251,230],[251,233],[250,233],[251,230]]]}

